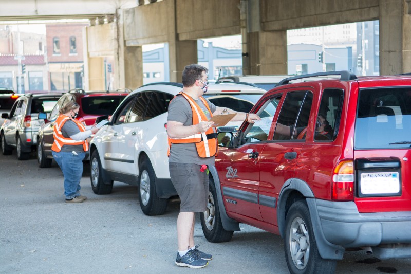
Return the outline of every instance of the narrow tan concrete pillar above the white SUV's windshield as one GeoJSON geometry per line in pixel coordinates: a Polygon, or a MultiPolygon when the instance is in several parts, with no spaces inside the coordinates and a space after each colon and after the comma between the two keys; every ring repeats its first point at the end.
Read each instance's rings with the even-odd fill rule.
{"type": "Polygon", "coordinates": [[[141,46],[124,47],[125,87],[134,90],[143,84],[143,51],[141,46]]]}

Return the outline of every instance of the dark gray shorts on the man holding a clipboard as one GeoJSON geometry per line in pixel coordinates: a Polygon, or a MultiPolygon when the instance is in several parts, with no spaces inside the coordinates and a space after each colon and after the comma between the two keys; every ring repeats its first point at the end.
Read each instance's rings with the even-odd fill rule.
{"type": "Polygon", "coordinates": [[[204,212],[209,196],[209,174],[195,163],[170,162],[170,177],[178,196],[180,212],[204,212]]]}

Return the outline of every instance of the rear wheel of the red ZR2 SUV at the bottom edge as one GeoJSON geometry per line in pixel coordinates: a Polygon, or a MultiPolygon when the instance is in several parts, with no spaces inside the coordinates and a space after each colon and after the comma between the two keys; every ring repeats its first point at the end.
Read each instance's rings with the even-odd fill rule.
{"type": "Polygon", "coordinates": [[[334,273],[337,261],[321,258],[305,200],[298,200],[291,205],[285,232],[284,251],[291,273],[334,273]]]}

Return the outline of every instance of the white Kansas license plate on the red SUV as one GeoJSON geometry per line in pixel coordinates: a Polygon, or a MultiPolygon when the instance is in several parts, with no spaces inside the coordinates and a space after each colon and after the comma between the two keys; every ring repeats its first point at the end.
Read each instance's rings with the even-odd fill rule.
{"type": "Polygon", "coordinates": [[[400,192],[398,172],[369,172],[360,175],[361,194],[396,194],[400,192]]]}

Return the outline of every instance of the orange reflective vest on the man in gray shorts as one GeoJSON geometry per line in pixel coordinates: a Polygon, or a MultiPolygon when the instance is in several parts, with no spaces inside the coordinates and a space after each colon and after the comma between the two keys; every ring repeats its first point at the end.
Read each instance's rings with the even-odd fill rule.
{"type": "MultiPolygon", "coordinates": [[[[183,92],[180,92],[178,95],[184,96],[184,98],[189,101],[191,109],[193,111],[193,125],[196,125],[200,122],[208,121],[206,114],[198,106],[196,101],[191,98],[191,96],[185,95],[183,92]]],[[[176,96],[178,96],[176,95],[176,96]]],[[[213,117],[209,104],[206,99],[201,96],[199,99],[204,103],[207,109],[210,112],[211,117],[213,117]]],[[[211,156],[216,156],[218,154],[218,144],[217,144],[217,134],[213,127],[210,127],[206,132],[198,132],[196,134],[190,135],[185,138],[170,138],[169,137],[169,153],[171,150],[172,143],[195,143],[197,147],[198,156],[201,158],[207,158],[211,156]]]]}

